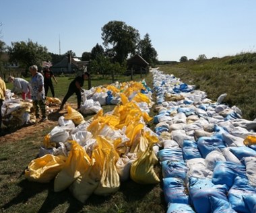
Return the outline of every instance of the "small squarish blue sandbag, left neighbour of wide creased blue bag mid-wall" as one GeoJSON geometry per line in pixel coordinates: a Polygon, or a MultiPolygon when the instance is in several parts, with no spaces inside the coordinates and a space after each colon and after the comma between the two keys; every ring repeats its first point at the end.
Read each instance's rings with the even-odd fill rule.
{"type": "Polygon", "coordinates": [[[195,158],[201,158],[201,153],[197,148],[197,144],[192,140],[184,140],[182,149],[185,161],[195,158]]]}

